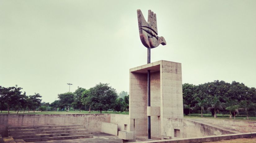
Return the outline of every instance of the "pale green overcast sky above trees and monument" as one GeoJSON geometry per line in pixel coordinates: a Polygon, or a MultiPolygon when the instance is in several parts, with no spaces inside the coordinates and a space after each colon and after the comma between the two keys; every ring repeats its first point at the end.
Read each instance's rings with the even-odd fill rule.
{"type": "Polygon", "coordinates": [[[0,0],[0,85],[52,102],[99,82],[129,91],[129,69],[146,64],[137,9],[157,15],[167,45],[151,62],[182,63],[183,83],[233,80],[256,87],[255,0],[0,0]]]}

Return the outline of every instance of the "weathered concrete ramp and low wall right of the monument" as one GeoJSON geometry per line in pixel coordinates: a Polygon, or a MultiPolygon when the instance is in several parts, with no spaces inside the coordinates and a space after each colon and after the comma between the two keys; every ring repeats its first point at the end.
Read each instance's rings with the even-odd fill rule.
{"type": "Polygon", "coordinates": [[[210,124],[221,125],[241,133],[256,132],[256,121],[234,121],[234,120],[216,120],[216,119],[192,119],[194,121],[204,121],[210,124]]]}

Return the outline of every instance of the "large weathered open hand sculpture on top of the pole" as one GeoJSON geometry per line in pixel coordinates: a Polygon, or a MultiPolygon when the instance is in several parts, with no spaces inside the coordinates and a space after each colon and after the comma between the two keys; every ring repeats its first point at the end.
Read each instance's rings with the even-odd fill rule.
{"type": "Polygon", "coordinates": [[[159,44],[166,45],[164,37],[157,36],[156,14],[148,10],[148,22],[146,22],[141,10],[137,10],[137,16],[142,44],[147,48],[155,48],[159,44]]]}

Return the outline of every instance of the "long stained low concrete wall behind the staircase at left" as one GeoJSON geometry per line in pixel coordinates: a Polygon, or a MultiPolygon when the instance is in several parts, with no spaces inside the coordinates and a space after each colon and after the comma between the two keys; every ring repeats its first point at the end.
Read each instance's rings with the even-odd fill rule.
{"type": "Polygon", "coordinates": [[[101,123],[110,122],[110,114],[1,114],[0,134],[7,137],[8,126],[41,126],[41,125],[83,125],[90,132],[101,132],[101,123]]]}

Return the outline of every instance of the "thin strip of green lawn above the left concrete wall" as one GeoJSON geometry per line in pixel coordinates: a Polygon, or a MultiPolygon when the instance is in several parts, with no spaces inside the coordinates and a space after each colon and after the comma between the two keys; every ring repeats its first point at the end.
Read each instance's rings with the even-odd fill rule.
{"type": "MultiPolygon", "coordinates": [[[[7,114],[8,111],[2,111],[2,113],[0,114],[7,114]]],[[[91,113],[89,113],[89,111],[69,111],[69,112],[66,112],[66,111],[25,111],[25,113],[23,113],[23,111],[19,111],[18,114],[99,114],[100,112],[99,111],[91,111],[91,113]]],[[[110,111],[102,111],[102,113],[104,114],[127,114],[129,115],[129,112],[110,112],[110,111]]],[[[10,111],[10,114],[17,114],[17,111],[10,111]]]]}

